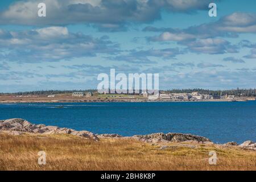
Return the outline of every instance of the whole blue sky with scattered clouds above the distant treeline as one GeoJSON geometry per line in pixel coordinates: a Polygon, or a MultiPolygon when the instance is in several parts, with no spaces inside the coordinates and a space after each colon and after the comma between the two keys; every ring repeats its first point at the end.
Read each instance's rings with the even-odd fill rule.
{"type": "Polygon", "coordinates": [[[159,73],[159,89],[256,88],[254,0],[0,2],[0,92],[94,89],[159,73]],[[46,17],[38,4],[46,4],[46,17]],[[217,5],[210,17],[209,3],[217,5]]]}

